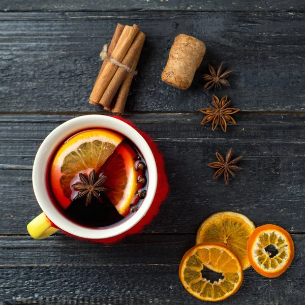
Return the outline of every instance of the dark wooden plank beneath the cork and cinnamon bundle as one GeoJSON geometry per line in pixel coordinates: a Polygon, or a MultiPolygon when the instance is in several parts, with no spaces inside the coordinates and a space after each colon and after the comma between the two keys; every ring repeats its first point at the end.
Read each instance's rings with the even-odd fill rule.
{"type": "Polygon", "coordinates": [[[296,12],[2,13],[2,112],[98,112],[88,97],[99,52],[117,22],[147,35],[127,111],[197,111],[211,100],[200,75],[207,64],[235,71],[223,89],[247,111],[305,111],[305,25],[296,12]],[[173,39],[202,39],[207,52],[188,90],[161,81],[173,39]],[[31,67],[31,69],[29,69],[31,67]]]}

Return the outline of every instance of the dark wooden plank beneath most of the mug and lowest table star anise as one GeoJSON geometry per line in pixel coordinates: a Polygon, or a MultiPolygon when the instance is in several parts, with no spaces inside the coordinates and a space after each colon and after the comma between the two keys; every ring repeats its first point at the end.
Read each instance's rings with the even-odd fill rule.
{"type": "MultiPolygon", "coordinates": [[[[0,117],[1,234],[26,234],[26,224],[40,211],[32,191],[36,151],[68,115],[0,117]],[[22,198],[22,200],[21,200],[22,198]]],[[[125,116],[158,143],[170,184],[168,199],[146,233],[195,233],[214,212],[235,210],[256,225],[276,223],[290,232],[304,231],[304,115],[236,114],[227,133],[201,126],[201,113],[125,116]],[[226,186],[211,180],[206,166],[215,152],[233,147],[243,170],[226,186]]]]}

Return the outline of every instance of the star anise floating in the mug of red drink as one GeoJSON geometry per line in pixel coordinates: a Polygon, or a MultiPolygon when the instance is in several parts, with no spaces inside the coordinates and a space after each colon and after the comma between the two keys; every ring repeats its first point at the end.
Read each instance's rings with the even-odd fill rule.
{"type": "Polygon", "coordinates": [[[102,202],[102,199],[98,192],[107,190],[107,188],[101,186],[101,184],[105,182],[107,177],[102,175],[98,179],[96,179],[96,172],[95,170],[93,170],[92,172],[90,172],[88,178],[81,173],[79,174],[79,178],[82,183],[77,182],[74,185],[72,185],[72,188],[76,190],[80,190],[78,192],[78,195],[73,200],[86,196],[86,206],[87,206],[94,196],[100,202],[102,202]]]}

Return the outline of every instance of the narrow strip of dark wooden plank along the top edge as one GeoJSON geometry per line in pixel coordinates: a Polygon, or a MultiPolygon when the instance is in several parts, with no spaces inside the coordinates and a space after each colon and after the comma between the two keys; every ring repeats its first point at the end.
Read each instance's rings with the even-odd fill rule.
{"type": "Polygon", "coordinates": [[[246,3],[226,0],[95,0],[85,3],[81,0],[65,0],[59,3],[54,0],[3,0],[0,11],[302,11],[304,8],[304,3],[298,0],[253,0],[246,3]]]}

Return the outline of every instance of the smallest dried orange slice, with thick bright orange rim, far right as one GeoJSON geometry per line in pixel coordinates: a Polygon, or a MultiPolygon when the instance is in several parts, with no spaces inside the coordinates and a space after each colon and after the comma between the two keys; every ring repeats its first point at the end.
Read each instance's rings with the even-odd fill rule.
{"type": "Polygon", "coordinates": [[[267,278],[280,276],[291,264],[294,245],[290,234],[276,225],[257,227],[248,240],[248,257],[252,267],[267,278]],[[276,253],[271,254],[268,247],[276,253]]]}

